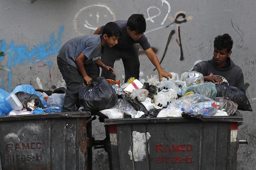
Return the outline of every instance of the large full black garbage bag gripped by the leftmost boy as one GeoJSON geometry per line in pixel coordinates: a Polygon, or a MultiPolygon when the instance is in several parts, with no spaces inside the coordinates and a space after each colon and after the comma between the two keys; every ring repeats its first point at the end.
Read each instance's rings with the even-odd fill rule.
{"type": "Polygon", "coordinates": [[[110,109],[117,102],[115,90],[104,77],[98,77],[90,85],[79,90],[79,101],[84,111],[98,112],[110,109]]]}

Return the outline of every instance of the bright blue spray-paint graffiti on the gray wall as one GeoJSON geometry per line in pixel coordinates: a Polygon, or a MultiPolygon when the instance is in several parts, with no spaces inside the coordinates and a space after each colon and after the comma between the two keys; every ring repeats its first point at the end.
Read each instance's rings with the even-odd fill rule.
{"type": "MultiPolygon", "coordinates": [[[[57,54],[61,48],[61,37],[64,31],[64,27],[61,26],[58,37],[55,39],[54,33],[51,33],[50,41],[46,42],[38,47],[34,47],[31,51],[28,51],[27,46],[15,46],[14,41],[12,41],[11,45],[8,46],[5,43],[5,40],[0,42],[0,51],[5,53],[5,56],[0,57],[0,62],[3,61],[4,57],[8,58],[8,63],[6,68],[10,70],[8,72],[8,91],[11,91],[12,84],[12,66],[16,66],[18,63],[28,64],[35,62],[36,60],[45,60],[46,57],[50,55],[57,54]]],[[[48,66],[52,65],[52,62],[46,60],[48,66]]],[[[1,88],[4,86],[4,71],[2,75],[2,83],[1,88]]]]}

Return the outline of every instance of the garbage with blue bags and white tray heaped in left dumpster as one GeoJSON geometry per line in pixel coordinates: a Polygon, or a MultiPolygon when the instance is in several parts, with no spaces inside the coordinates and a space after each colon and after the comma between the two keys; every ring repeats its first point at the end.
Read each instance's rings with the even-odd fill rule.
{"type": "Polygon", "coordinates": [[[0,88],[0,116],[62,112],[66,88],[34,89],[19,85],[11,93],[0,88]]]}

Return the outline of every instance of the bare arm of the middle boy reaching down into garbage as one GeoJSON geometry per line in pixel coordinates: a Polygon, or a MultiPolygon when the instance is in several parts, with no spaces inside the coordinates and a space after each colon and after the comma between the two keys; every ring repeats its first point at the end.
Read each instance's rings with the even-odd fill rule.
{"type": "Polygon", "coordinates": [[[169,79],[169,77],[172,78],[172,74],[167,73],[167,72],[165,72],[165,71],[162,69],[162,67],[161,67],[161,65],[160,65],[160,63],[159,63],[159,60],[158,60],[156,54],[154,53],[154,51],[152,50],[151,47],[148,48],[147,50],[145,50],[145,53],[146,53],[148,59],[149,59],[149,60],[152,62],[152,64],[156,67],[157,72],[158,72],[158,74],[159,74],[159,81],[162,80],[162,77],[166,77],[167,80],[169,79]]]}

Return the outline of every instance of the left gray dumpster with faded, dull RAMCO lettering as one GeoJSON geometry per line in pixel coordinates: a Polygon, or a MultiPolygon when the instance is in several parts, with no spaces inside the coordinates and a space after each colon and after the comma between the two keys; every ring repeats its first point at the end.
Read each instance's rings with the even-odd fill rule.
{"type": "Polygon", "coordinates": [[[0,117],[0,169],[91,169],[90,112],[0,117]]]}

